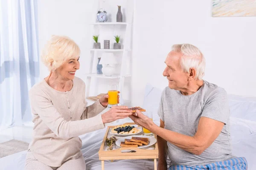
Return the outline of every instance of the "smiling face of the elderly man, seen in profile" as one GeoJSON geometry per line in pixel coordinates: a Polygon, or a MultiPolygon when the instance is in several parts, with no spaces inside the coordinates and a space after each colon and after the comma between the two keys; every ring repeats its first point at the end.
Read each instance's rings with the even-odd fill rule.
{"type": "Polygon", "coordinates": [[[171,51],[165,60],[166,68],[163,71],[163,76],[168,79],[169,88],[180,90],[181,88],[186,88],[188,84],[188,73],[184,73],[180,66],[180,53],[171,51]]]}

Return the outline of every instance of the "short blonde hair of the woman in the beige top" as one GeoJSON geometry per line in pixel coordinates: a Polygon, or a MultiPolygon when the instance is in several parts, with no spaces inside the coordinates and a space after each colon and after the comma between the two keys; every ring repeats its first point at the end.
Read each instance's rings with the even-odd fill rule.
{"type": "Polygon", "coordinates": [[[80,48],[69,37],[53,35],[45,45],[41,59],[49,70],[56,70],[65,61],[80,55],[80,48]]]}

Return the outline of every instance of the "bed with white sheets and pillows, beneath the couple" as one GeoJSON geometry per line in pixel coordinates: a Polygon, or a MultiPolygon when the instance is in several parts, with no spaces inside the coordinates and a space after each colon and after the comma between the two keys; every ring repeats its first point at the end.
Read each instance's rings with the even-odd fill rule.
{"type": "MultiPolygon", "coordinates": [[[[143,108],[153,111],[153,121],[159,125],[157,108],[162,89],[148,84],[145,88],[143,108]]],[[[248,169],[256,169],[256,97],[244,97],[229,95],[230,124],[233,154],[244,156],[248,161],[248,169]]],[[[117,125],[131,122],[131,119],[122,119],[109,125],[117,125]]],[[[87,170],[100,170],[98,151],[101,145],[105,129],[81,135],[83,142],[82,153],[86,161],[87,170]]],[[[0,159],[1,170],[23,170],[26,159],[26,151],[15,153],[0,159]]],[[[153,170],[154,161],[140,160],[116,160],[105,161],[105,170],[153,170]]]]}

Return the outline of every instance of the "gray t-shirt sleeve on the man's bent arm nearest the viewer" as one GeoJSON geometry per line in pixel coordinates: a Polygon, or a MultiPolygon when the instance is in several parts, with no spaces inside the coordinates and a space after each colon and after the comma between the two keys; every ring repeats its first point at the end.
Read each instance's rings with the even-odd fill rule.
{"type": "Polygon", "coordinates": [[[202,116],[227,124],[230,109],[227,92],[223,88],[216,88],[216,90],[210,94],[209,98],[204,103],[201,117],[202,116]]]}

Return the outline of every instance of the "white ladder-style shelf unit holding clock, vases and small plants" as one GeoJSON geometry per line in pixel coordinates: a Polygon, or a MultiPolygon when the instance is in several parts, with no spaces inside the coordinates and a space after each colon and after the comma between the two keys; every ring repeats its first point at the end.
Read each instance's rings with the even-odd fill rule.
{"type": "MultiPolygon", "coordinates": [[[[99,0],[101,1],[101,0],[99,0]]],[[[94,11],[98,11],[99,8],[102,8],[102,2],[95,2],[97,3],[96,6],[94,6],[94,11]]],[[[111,1],[109,1],[111,2],[111,1]]],[[[91,85],[93,83],[93,81],[97,81],[97,79],[108,79],[108,82],[109,81],[115,81],[117,82],[118,81],[118,84],[119,84],[119,88],[118,90],[121,92],[120,93],[120,104],[123,105],[123,104],[130,104],[131,102],[131,97],[130,95],[128,95],[127,97],[125,97],[125,99],[123,98],[123,94],[122,93],[122,90],[124,89],[124,86],[127,85],[125,83],[125,78],[129,78],[131,77],[131,73],[130,71],[127,71],[127,64],[129,64],[129,67],[130,67],[130,70],[131,70],[131,39],[132,39],[132,25],[133,25],[133,13],[134,13],[134,4],[135,4],[135,0],[126,0],[127,3],[129,3],[126,7],[129,8],[130,10],[130,16],[128,19],[127,16],[125,16],[127,22],[122,22],[122,23],[117,23],[117,22],[105,22],[105,23],[98,23],[96,22],[96,13],[93,14],[93,17],[92,17],[92,21],[89,25],[90,25],[90,34],[91,35],[95,35],[96,34],[96,30],[100,31],[102,29],[105,29],[105,28],[111,28],[111,29],[114,29],[116,31],[116,34],[118,34],[118,29],[125,29],[125,35],[122,36],[123,37],[123,41],[121,42],[122,43],[122,49],[93,49],[93,48],[89,48],[88,51],[90,53],[90,68],[89,68],[89,73],[87,74],[84,74],[85,77],[86,77],[86,97],[87,96],[96,96],[97,94],[94,93],[96,91],[96,85],[91,85]],[[99,57],[99,53],[105,53],[105,52],[112,52],[114,53],[115,55],[118,55],[120,56],[120,59],[121,59],[121,62],[120,62],[120,74],[118,75],[113,75],[111,77],[108,77],[108,76],[104,76],[102,74],[96,74],[95,73],[95,69],[93,68],[96,68],[96,60],[97,60],[97,57],[99,57]],[[124,85],[125,83],[125,85],[124,85]],[[93,89],[94,88],[94,89],[93,89]]],[[[111,3],[109,3],[111,4],[111,3]]],[[[109,5],[108,4],[108,5],[109,5]]],[[[113,3],[113,6],[116,7],[116,4],[113,3]]],[[[108,10],[107,10],[108,11],[108,10]]],[[[121,9],[122,11],[122,9],[121,9]]],[[[125,11],[127,11],[125,9],[125,11]]],[[[117,12],[117,11],[116,11],[117,12]]],[[[122,11],[123,12],[123,11],[122,11]]],[[[111,14],[112,16],[114,14],[111,14]]],[[[115,18],[115,17],[113,17],[115,18]]],[[[124,14],[123,14],[123,19],[124,19],[124,14]]],[[[109,34],[109,33],[108,33],[109,34]]],[[[113,33],[112,33],[113,34],[113,33]]],[[[116,34],[113,34],[116,35],[116,34]]],[[[101,37],[102,35],[100,34],[99,37],[101,37]]],[[[113,42],[113,38],[111,38],[111,41],[113,42]]],[[[90,45],[93,45],[93,39],[91,38],[91,43],[90,45]]],[[[103,40],[101,41],[101,48],[103,48],[103,40]]],[[[105,80],[104,80],[105,81],[105,80]]],[[[107,80],[106,80],[107,81],[107,80]]],[[[131,81],[130,81],[131,82],[131,81]]],[[[94,82],[95,84],[95,82],[94,82]]],[[[106,84],[107,86],[107,84],[106,84]]],[[[131,92],[131,85],[128,85],[128,90],[129,92],[131,92]]],[[[125,91],[126,92],[126,91],[125,91]]]]}

